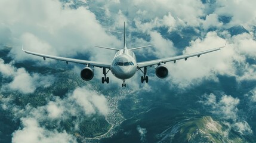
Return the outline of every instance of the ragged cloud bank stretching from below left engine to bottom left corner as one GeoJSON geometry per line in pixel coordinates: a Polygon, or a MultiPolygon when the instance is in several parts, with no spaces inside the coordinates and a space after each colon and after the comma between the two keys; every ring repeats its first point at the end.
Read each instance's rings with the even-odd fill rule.
{"type": "Polygon", "coordinates": [[[21,121],[20,128],[12,134],[13,142],[76,142],[76,137],[63,129],[63,123],[72,125],[69,132],[80,132],[84,119],[92,115],[97,119],[110,112],[106,97],[88,86],[76,88],[62,99],[51,97],[48,104],[38,107],[27,104],[21,108],[12,98],[3,97],[1,101],[2,108],[10,111],[14,120],[21,121]]]}

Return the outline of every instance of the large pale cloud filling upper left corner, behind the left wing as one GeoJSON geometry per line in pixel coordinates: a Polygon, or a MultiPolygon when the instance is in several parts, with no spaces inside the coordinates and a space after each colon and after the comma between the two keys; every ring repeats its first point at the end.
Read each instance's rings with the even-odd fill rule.
{"type": "Polygon", "coordinates": [[[94,45],[118,47],[122,44],[105,32],[94,13],[86,7],[74,10],[60,1],[26,0],[1,1],[0,8],[4,11],[0,14],[1,23],[10,29],[14,43],[10,55],[16,61],[36,59],[24,54],[21,45],[30,51],[65,57],[91,51],[96,60],[104,61],[109,59],[109,54],[104,55],[108,51],[94,51],[94,45]]]}

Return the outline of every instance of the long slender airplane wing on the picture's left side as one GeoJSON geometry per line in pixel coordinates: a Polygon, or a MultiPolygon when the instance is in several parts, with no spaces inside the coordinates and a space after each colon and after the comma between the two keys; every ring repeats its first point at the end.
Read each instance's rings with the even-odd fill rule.
{"type": "Polygon", "coordinates": [[[107,69],[110,69],[110,64],[104,64],[101,62],[97,62],[97,61],[87,61],[87,60],[79,60],[79,59],[75,59],[75,58],[65,58],[65,57],[57,57],[57,56],[53,56],[53,55],[45,55],[45,54],[40,54],[37,52],[31,52],[31,51],[27,51],[24,50],[22,48],[22,51],[24,51],[27,54],[32,54],[32,55],[37,55],[39,57],[43,57],[44,60],[45,58],[52,58],[54,60],[60,60],[60,61],[66,61],[66,63],[71,62],[71,63],[78,63],[78,64],[88,64],[89,66],[95,66],[95,67],[104,67],[107,69]]]}

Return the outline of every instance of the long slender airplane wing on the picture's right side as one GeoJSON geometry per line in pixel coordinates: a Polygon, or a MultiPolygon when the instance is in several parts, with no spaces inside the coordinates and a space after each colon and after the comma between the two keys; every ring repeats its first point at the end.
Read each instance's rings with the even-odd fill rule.
{"type": "MultiPolygon", "coordinates": [[[[226,46],[226,45],[225,45],[226,46]]],[[[214,48],[214,49],[208,49],[206,51],[201,51],[201,52],[195,52],[195,53],[192,53],[192,54],[186,54],[186,55],[178,55],[178,56],[175,56],[175,57],[169,57],[169,58],[161,58],[161,59],[158,59],[158,60],[151,60],[151,61],[143,61],[143,62],[139,62],[137,63],[138,64],[138,69],[142,68],[142,67],[148,67],[148,66],[153,66],[155,64],[161,64],[161,63],[167,63],[169,61],[174,61],[174,63],[176,63],[177,60],[181,60],[181,59],[185,59],[187,60],[187,58],[189,57],[195,57],[195,56],[198,56],[200,57],[200,55],[202,54],[206,54],[208,52],[214,52],[214,51],[218,51],[220,50],[221,48],[224,48],[225,46],[221,46],[220,48],[214,48]]]]}

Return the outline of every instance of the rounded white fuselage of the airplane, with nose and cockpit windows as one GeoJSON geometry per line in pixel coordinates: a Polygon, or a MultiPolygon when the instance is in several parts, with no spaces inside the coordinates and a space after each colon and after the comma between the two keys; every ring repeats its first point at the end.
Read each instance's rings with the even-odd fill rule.
{"type": "Polygon", "coordinates": [[[110,70],[118,79],[129,79],[137,71],[137,61],[134,52],[124,48],[116,52],[110,70]]]}

